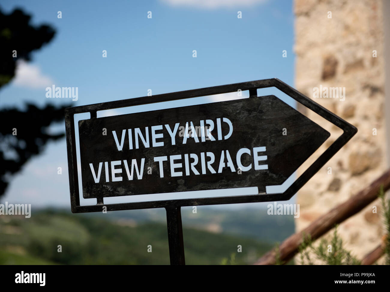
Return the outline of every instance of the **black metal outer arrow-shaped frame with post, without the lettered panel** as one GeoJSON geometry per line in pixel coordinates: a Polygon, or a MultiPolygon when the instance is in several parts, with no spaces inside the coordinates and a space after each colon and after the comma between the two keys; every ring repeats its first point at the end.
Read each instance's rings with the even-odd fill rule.
{"type": "Polygon", "coordinates": [[[106,103],[90,104],[85,106],[75,106],[65,109],[66,126],[66,144],[69,168],[69,188],[71,196],[71,210],[73,213],[83,212],[101,212],[102,206],[106,206],[107,211],[133,210],[133,209],[151,209],[165,208],[167,211],[168,242],[171,264],[184,264],[184,244],[183,230],[181,224],[181,207],[199,206],[199,205],[219,205],[219,204],[238,204],[254,202],[270,202],[289,200],[337,151],[339,151],[357,132],[356,127],[341,119],[323,106],[317,104],[298,90],[287,85],[277,78],[248,81],[242,83],[233,83],[229,85],[220,85],[214,87],[185,90],[155,96],[145,96],[132,99],[123,99],[119,101],[110,101],[106,103]],[[175,101],[192,97],[209,96],[214,94],[223,94],[236,92],[238,89],[249,90],[250,97],[257,97],[258,88],[276,87],[288,96],[295,99],[298,103],[314,111],[324,119],[328,120],[344,132],[328,147],[317,159],[303,172],[296,181],[284,192],[277,194],[257,194],[245,196],[225,196],[212,198],[194,198],[178,200],[161,200],[150,202],[134,202],[121,204],[103,204],[103,198],[97,199],[96,205],[80,205],[80,193],[77,171],[76,157],[76,137],[74,128],[74,115],[77,113],[90,113],[91,118],[96,117],[97,111],[110,110],[113,108],[123,108],[141,104],[160,103],[164,101],[175,101]]]}

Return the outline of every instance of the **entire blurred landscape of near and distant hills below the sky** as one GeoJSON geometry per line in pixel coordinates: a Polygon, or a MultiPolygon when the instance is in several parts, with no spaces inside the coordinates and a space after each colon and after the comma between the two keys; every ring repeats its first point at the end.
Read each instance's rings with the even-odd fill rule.
{"type": "MultiPolygon", "coordinates": [[[[294,233],[293,216],[269,216],[266,209],[198,207],[193,213],[186,207],[182,217],[190,265],[252,264],[294,233]]],[[[31,218],[4,215],[0,264],[169,264],[165,210],[72,214],[42,209],[31,218]]]]}

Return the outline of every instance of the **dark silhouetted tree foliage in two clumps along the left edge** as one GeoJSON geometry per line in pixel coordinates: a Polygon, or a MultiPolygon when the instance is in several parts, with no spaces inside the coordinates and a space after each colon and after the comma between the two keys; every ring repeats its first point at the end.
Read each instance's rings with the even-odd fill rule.
{"type": "MultiPolygon", "coordinates": [[[[14,77],[17,60],[31,60],[31,52],[50,42],[55,35],[49,25],[34,27],[30,25],[30,19],[31,16],[20,9],[10,14],[0,10],[0,88],[14,77]]],[[[0,196],[12,175],[30,158],[41,153],[49,141],[64,136],[64,133],[48,133],[48,127],[64,119],[66,107],[37,108],[30,103],[25,111],[17,108],[0,110],[0,196]]]]}

